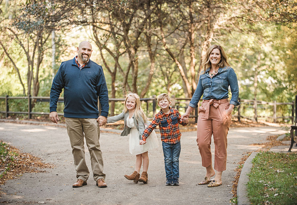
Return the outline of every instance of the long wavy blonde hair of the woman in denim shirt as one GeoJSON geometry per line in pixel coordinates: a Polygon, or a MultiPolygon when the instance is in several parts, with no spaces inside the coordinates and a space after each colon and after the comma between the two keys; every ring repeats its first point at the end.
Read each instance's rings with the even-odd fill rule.
{"type": "Polygon", "coordinates": [[[212,52],[212,50],[215,49],[215,48],[219,49],[220,53],[221,53],[221,59],[220,59],[220,62],[218,64],[219,68],[224,68],[225,66],[230,66],[228,61],[227,61],[227,55],[226,55],[224,49],[220,45],[211,45],[207,49],[206,55],[202,59],[202,68],[203,68],[204,73],[206,72],[206,70],[208,68],[211,67],[209,56],[210,56],[210,53],[212,52]]]}

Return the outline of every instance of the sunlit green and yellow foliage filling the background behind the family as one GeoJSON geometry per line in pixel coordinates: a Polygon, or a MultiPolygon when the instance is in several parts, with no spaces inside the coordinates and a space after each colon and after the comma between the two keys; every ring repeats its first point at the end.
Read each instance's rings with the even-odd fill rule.
{"type": "MultiPolygon", "coordinates": [[[[135,57],[138,60],[138,92],[145,87],[147,76],[150,68],[150,59],[146,44],[146,35],[151,35],[152,49],[155,57],[155,71],[148,92],[144,97],[159,95],[162,92],[175,95],[176,97],[185,97],[185,90],[181,75],[178,71],[176,63],[172,57],[165,51],[160,36],[159,21],[163,20],[164,31],[168,48],[173,52],[178,60],[184,60],[186,75],[190,79],[189,62],[189,8],[193,9],[193,20],[195,24],[195,74],[198,74],[199,62],[202,54],[203,44],[221,44],[227,53],[229,63],[236,71],[239,84],[239,97],[241,99],[263,100],[267,102],[291,102],[297,94],[297,35],[292,25],[287,28],[285,22],[279,24],[267,23],[271,22],[273,16],[277,22],[281,22],[280,18],[285,15],[293,14],[292,11],[296,7],[290,8],[289,5],[296,5],[296,0],[282,1],[282,5],[278,6],[278,1],[211,1],[206,4],[205,1],[165,1],[162,6],[156,7],[155,1],[60,1],[57,5],[55,0],[39,0],[24,2],[9,1],[8,4],[0,5],[1,11],[1,27],[12,26],[17,28],[19,38],[22,40],[26,48],[33,48],[33,41],[36,39],[36,32],[44,29],[44,34],[49,34],[52,28],[56,29],[56,65],[51,67],[51,41],[44,41],[43,49],[40,52],[42,62],[39,67],[38,82],[39,96],[49,96],[52,82],[52,73],[56,73],[62,61],[69,60],[75,56],[75,49],[79,41],[89,39],[93,45],[93,53],[91,59],[102,65],[105,72],[105,78],[108,85],[109,96],[111,97],[111,74],[104,66],[101,59],[98,46],[92,40],[95,40],[93,33],[92,12],[98,12],[97,36],[100,42],[106,42],[104,48],[110,49],[113,54],[119,53],[119,64],[123,72],[127,71],[130,58],[127,52],[128,47],[138,47],[135,57]],[[144,19],[147,12],[146,4],[150,3],[152,14],[147,20],[149,22],[147,28],[141,30],[137,27],[144,19]],[[6,6],[8,5],[8,6],[6,6]],[[93,5],[97,5],[94,7],[93,5]],[[69,9],[71,8],[71,9],[69,9]],[[214,9],[216,8],[216,9],[214,9]],[[64,9],[64,10],[63,10],[64,9]],[[67,10],[69,9],[69,10],[67,10]],[[96,10],[97,9],[97,10],[96,10]],[[155,9],[155,10],[153,10],[155,9]],[[158,10],[159,9],[159,10],[158,10]],[[82,12],[83,11],[83,12],[82,12]],[[236,12],[234,12],[236,11],[236,12]],[[254,11],[254,12],[252,12],[254,11]],[[256,12],[258,11],[258,12],[256,12]],[[2,15],[3,14],[3,15],[2,15]],[[59,16],[63,14],[63,16],[59,16]],[[110,31],[108,19],[110,14],[113,18],[114,27],[110,31]],[[206,15],[210,15],[206,18],[206,15]],[[258,14],[262,15],[267,21],[259,19],[258,14]],[[66,18],[67,17],[67,18],[66,18]],[[57,20],[56,19],[60,19],[57,20]],[[208,22],[209,20],[209,22],[208,22]],[[128,34],[129,41],[123,37],[124,24],[129,24],[128,34]],[[142,32],[139,36],[137,45],[135,41],[135,33],[142,32]],[[151,32],[151,33],[150,33],[151,32]],[[25,35],[26,34],[26,35],[25,35]],[[23,39],[23,35],[27,39],[23,39]],[[208,39],[206,36],[212,35],[208,39]],[[114,37],[114,38],[112,38],[114,37]],[[209,42],[206,42],[209,40],[209,42]],[[125,43],[124,43],[125,41],[125,43]],[[131,45],[130,45],[131,43],[131,45]],[[134,44],[133,44],[134,43],[134,44]],[[119,44],[119,46],[117,46],[119,44]],[[178,56],[183,50],[183,56],[178,56]],[[255,85],[255,75],[257,76],[257,85],[255,85]]],[[[295,22],[296,23],[296,22],[295,22]]],[[[14,30],[14,31],[16,31],[14,30]]],[[[28,62],[25,52],[20,45],[7,36],[6,30],[0,30],[1,38],[4,46],[7,47],[10,56],[20,69],[20,77],[23,79],[24,87],[28,90],[26,79],[28,78],[28,62]]],[[[12,35],[10,33],[10,35],[12,35]]],[[[46,35],[45,35],[46,36],[46,35]]],[[[18,73],[13,68],[9,58],[2,54],[3,49],[0,47],[0,95],[5,96],[21,96],[23,88],[20,84],[18,73]]],[[[30,50],[30,54],[32,51],[30,50]]],[[[115,69],[115,60],[110,53],[103,49],[102,55],[106,64],[115,69]]],[[[131,54],[130,54],[131,55],[131,54]]],[[[37,72],[37,57],[33,58],[32,73],[35,76],[37,72]]],[[[135,61],[133,61],[135,62],[135,61]]],[[[31,66],[31,65],[30,65],[31,66]]],[[[117,68],[115,79],[115,97],[123,98],[123,81],[124,75],[117,68]]],[[[132,68],[128,76],[128,85],[132,87],[132,68]]],[[[32,85],[31,85],[32,87],[32,85]]],[[[132,89],[132,88],[131,88],[132,89]]],[[[140,93],[138,93],[140,94],[140,93]]],[[[63,93],[61,94],[63,96],[63,93]]],[[[58,104],[58,112],[63,111],[63,103],[58,104]]],[[[143,103],[146,110],[146,103],[143,103]]],[[[152,103],[149,103],[149,116],[152,116],[152,103]]],[[[182,107],[186,103],[182,103],[182,107]]],[[[258,115],[272,116],[270,105],[259,106],[258,115]]],[[[4,101],[0,100],[0,108],[4,110],[4,101]]],[[[28,109],[26,100],[10,100],[11,111],[26,111],[28,109]]],[[[253,116],[252,105],[242,106],[242,115],[253,116]]],[[[123,104],[116,102],[115,113],[123,110],[123,104]]],[[[183,112],[183,108],[181,108],[183,112]]],[[[34,112],[48,112],[48,103],[37,102],[34,104],[34,112]]],[[[277,107],[277,116],[290,116],[291,107],[288,105],[279,105],[277,107]]]]}

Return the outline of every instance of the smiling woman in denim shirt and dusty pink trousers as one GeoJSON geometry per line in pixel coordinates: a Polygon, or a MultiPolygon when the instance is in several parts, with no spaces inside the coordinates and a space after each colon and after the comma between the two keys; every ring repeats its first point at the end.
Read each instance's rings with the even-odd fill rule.
{"type": "Polygon", "coordinates": [[[197,145],[202,159],[202,166],[206,167],[206,175],[199,185],[208,187],[222,185],[222,172],[226,170],[227,134],[231,123],[231,113],[238,102],[238,82],[233,68],[227,62],[224,49],[219,45],[212,45],[206,51],[202,61],[203,71],[200,73],[195,93],[189,103],[186,113],[181,117],[188,117],[203,95],[202,105],[199,107],[197,122],[197,145]],[[228,100],[228,88],[231,90],[231,100],[228,100]],[[214,168],[211,161],[211,136],[214,136],[214,168]],[[217,170],[217,174],[215,173],[217,170]],[[216,175],[215,175],[216,174],[216,175]],[[211,180],[211,177],[214,177],[211,180]]]}

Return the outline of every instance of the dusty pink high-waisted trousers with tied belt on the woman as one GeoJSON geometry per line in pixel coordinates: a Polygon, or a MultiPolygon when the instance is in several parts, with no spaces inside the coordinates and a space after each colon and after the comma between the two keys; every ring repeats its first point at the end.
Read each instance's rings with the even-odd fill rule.
{"type": "Polygon", "coordinates": [[[230,104],[228,98],[221,100],[203,100],[199,107],[197,122],[197,145],[202,158],[202,166],[211,165],[211,136],[214,135],[214,169],[226,170],[227,134],[231,124],[231,115],[226,111],[230,104]]]}

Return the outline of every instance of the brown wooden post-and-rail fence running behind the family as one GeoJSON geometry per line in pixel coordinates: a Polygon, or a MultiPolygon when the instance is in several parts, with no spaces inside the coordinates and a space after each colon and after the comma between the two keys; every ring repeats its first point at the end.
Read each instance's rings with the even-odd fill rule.
{"type": "MultiPolygon", "coordinates": [[[[247,99],[238,99],[238,101],[241,103],[239,106],[236,107],[235,112],[237,110],[237,114],[232,115],[232,117],[236,117],[238,119],[238,121],[241,120],[241,118],[246,118],[246,119],[251,119],[254,121],[258,120],[258,117],[262,117],[262,118],[273,118],[274,122],[277,122],[278,118],[282,118],[282,119],[290,119],[292,121],[292,123],[294,123],[294,114],[295,116],[297,116],[297,111],[296,111],[296,107],[297,107],[297,95],[295,96],[295,102],[265,102],[265,101],[259,101],[259,100],[247,100],[247,99]],[[245,105],[252,105],[252,108],[254,109],[254,116],[250,117],[250,116],[242,116],[242,110],[243,109],[247,109],[245,108],[245,105]],[[273,110],[273,116],[260,116],[258,115],[257,111],[259,110],[259,106],[258,105],[269,105],[272,106],[272,110],[273,110]],[[292,114],[291,116],[277,116],[277,106],[278,105],[291,105],[291,110],[292,110],[292,114]]],[[[0,96],[0,100],[5,100],[5,110],[0,110],[0,113],[5,113],[6,118],[9,116],[9,114],[27,114],[28,118],[31,119],[32,115],[49,115],[49,112],[32,112],[32,100],[35,100],[35,102],[49,102],[50,101],[50,97],[33,97],[33,96],[26,96],[26,97],[10,97],[8,95],[6,96],[0,96]],[[24,100],[28,100],[28,110],[26,111],[21,111],[21,112],[16,112],[16,111],[10,111],[9,110],[9,100],[10,99],[24,99],[24,100]]],[[[109,102],[114,101],[114,102],[124,102],[124,98],[109,98],[109,102]]],[[[189,104],[189,101],[191,100],[191,98],[179,98],[179,97],[175,97],[172,96],[171,97],[171,107],[173,108],[183,108],[183,109],[187,109],[187,106],[189,104]]],[[[152,118],[155,116],[156,114],[156,108],[157,108],[157,98],[155,95],[153,95],[151,98],[140,98],[141,102],[145,102],[146,103],[146,114],[148,115],[149,118],[152,118]],[[152,102],[152,111],[153,111],[153,115],[149,116],[149,103],[152,102]]],[[[200,100],[201,102],[202,100],[200,100]]],[[[58,102],[64,102],[64,98],[60,97],[58,102]]],[[[200,102],[198,103],[198,107],[200,105],[200,102]]],[[[98,102],[98,107],[99,110],[100,109],[100,103],[98,102]]],[[[58,113],[58,115],[63,115],[63,113],[58,113]]],[[[195,121],[197,122],[197,118],[198,118],[198,108],[195,108],[195,112],[194,115],[190,115],[190,117],[195,118],[195,121]]]]}

